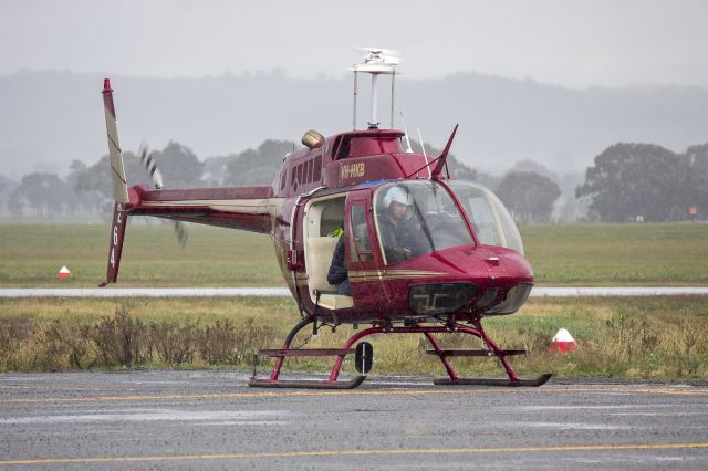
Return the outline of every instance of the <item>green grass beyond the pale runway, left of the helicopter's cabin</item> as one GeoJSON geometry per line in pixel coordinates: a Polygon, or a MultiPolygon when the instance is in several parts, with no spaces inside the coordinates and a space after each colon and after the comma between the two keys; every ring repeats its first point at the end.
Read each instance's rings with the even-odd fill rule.
{"type": "MultiPolygon", "coordinates": [[[[88,287],[105,281],[107,226],[0,226],[0,285],[88,287]],[[62,265],[71,279],[56,280],[62,265]]],[[[119,286],[283,285],[270,237],[190,226],[183,250],[171,226],[127,228],[119,286]]]]}

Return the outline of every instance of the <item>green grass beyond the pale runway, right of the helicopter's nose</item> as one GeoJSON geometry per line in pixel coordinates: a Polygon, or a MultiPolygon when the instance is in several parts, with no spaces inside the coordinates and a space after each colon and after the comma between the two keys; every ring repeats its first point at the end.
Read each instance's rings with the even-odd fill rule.
{"type": "Polygon", "coordinates": [[[708,224],[529,226],[539,285],[688,286],[708,283],[708,224]]]}

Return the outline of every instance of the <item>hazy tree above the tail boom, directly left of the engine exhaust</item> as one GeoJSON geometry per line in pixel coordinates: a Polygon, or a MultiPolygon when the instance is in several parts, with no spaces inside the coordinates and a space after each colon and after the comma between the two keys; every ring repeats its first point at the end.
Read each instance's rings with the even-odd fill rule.
{"type": "Polygon", "coordinates": [[[292,151],[291,140],[264,140],[258,149],[247,149],[226,167],[225,185],[269,185],[275,178],[285,154],[292,151]]]}

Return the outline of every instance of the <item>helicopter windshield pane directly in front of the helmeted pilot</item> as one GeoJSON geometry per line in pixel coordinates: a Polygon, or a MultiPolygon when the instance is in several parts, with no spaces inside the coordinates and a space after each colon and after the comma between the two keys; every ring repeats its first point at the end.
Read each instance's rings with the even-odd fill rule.
{"type": "Polygon", "coordinates": [[[475,243],[455,201],[434,181],[385,185],[376,192],[375,208],[387,264],[475,243]]]}

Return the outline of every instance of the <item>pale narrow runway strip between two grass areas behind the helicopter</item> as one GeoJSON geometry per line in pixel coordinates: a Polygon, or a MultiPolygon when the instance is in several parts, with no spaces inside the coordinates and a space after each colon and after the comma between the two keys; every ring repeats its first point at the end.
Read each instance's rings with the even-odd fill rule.
{"type": "MultiPolygon", "coordinates": [[[[534,287],[531,297],[708,295],[691,287],[534,287]]],[[[287,287],[4,287],[0,297],[232,297],[290,296],[287,287]]]]}

